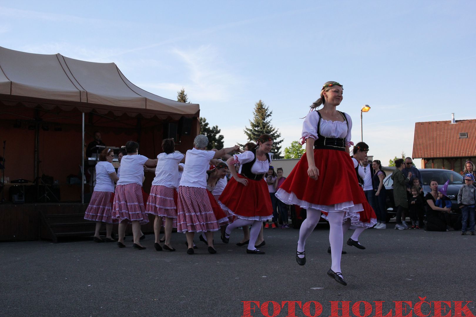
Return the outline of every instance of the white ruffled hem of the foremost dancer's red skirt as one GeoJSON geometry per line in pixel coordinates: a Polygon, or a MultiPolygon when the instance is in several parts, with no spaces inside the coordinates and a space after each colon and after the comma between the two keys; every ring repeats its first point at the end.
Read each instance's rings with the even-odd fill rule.
{"type": "MultiPolygon", "coordinates": [[[[358,213],[359,211],[363,211],[364,208],[362,207],[361,203],[358,203],[354,205],[354,202],[348,201],[348,202],[339,202],[334,205],[317,205],[311,202],[306,202],[303,200],[300,200],[296,197],[294,192],[286,192],[282,188],[278,188],[278,191],[275,193],[276,197],[281,202],[284,202],[288,205],[298,205],[301,208],[304,209],[317,209],[320,211],[326,211],[326,212],[335,212],[335,211],[346,211],[346,216],[348,212],[354,212],[358,213]]],[[[344,216],[345,219],[349,218],[349,216],[344,216]]]]}

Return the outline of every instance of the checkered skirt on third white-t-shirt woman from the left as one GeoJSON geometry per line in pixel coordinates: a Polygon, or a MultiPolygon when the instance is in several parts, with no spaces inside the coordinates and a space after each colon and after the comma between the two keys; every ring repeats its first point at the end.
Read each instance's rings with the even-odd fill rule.
{"type": "Polygon", "coordinates": [[[174,188],[152,185],[146,212],[162,217],[177,218],[177,191],[174,188]]]}

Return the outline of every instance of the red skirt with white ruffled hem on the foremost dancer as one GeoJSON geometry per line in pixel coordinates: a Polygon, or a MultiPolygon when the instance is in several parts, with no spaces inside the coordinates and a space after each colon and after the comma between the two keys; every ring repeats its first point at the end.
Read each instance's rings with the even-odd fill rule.
{"type": "Polygon", "coordinates": [[[278,188],[276,197],[289,205],[317,209],[323,213],[362,211],[362,203],[367,199],[347,152],[315,149],[314,160],[319,170],[317,180],[307,175],[307,156],[304,154],[278,188]]]}

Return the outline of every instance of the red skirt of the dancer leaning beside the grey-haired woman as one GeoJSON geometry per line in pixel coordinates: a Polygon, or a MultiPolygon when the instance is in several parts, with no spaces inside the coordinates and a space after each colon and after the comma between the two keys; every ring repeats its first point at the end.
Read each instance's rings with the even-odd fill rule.
{"type": "MultiPolygon", "coordinates": [[[[240,178],[244,176],[238,175],[240,178]]],[[[224,211],[238,218],[266,221],[273,218],[273,205],[265,180],[248,179],[248,185],[232,178],[220,195],[219,203],[224,211]]]]}

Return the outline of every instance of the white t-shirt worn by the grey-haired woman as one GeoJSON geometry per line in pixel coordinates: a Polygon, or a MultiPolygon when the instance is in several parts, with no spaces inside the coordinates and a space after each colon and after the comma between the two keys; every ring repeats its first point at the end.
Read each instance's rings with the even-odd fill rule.
{"type": "Polygon", "coordinates": [[[213,156],[213,151],[188,150],[180,186],[207,188],[207,170],[213,156]]]}

